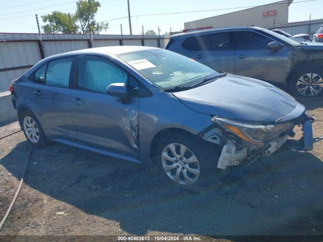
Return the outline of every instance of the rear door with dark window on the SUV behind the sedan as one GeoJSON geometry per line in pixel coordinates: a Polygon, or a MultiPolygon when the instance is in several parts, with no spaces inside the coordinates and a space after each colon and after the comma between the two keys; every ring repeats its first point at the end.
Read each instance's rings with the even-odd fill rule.
{"type": "Polygon", "coordinates": [[[230,32],[188,37],[182,43],[187,57],[219,71],[234,73],[234,51],[230,32]]]}

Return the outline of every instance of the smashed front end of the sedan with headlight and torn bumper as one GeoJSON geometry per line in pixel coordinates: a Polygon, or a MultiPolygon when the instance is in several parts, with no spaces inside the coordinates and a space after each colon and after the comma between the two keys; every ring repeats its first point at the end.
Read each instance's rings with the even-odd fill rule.
{"type": "Polygon", "coordinates": [[[313,143],[323,139],[313,139],[314,118],[306,112],[287,122],[267,125],[239,123],[216,116],[211,119],[214,125],[201,132],[200,136],[222,147],[217,165],[220,169],[238,165],[244,160],[253,161],[261,156],[271,155],[285,144],[291,149],[312,150],[313,143]],[[288,139],[295,135],[295,125],[302,126],[303,131],[303,136],[298,141],[288,139]]]}

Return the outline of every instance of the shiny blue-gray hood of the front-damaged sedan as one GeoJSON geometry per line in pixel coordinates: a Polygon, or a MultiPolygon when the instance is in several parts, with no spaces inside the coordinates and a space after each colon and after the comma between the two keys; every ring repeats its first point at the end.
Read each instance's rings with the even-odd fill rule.
{"type": "Polygon", "coordinates": [[[297,104],[292,96],[271,84],[231,74],[173,95],[196,112],[256,122],[275,122],[297,104]]]}

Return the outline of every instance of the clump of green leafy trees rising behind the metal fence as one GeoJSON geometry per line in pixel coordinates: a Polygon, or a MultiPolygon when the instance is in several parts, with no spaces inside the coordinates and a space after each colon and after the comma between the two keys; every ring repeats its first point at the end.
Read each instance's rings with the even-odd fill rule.
{"type": "Polygon", "coordinates": [[[76,5],[75,14],[54,11],[51,14],[41,16],[42,21],[46,23],[42,26],[43,31],[45,33],[98,34],[100,31],[109,28],[109,23],[97,23],[94,19],[98,8],[101,7],[98,1],[80,0],[76,5]]]}

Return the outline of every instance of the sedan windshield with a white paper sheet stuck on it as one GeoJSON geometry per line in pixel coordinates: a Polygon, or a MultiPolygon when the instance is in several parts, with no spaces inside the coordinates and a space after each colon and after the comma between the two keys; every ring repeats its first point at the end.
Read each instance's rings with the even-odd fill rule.
{"type": "Polygon", "coordinates": [[[148,49],[118,55],[162,89],[190,87],[205,78],[220,75],[193,59],[165,49],[148,49]]]}

